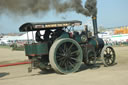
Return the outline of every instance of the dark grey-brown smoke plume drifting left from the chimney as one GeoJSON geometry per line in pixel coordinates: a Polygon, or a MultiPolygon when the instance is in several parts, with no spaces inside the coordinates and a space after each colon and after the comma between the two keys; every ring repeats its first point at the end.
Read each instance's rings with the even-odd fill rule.
{"type": "Polygon", "coordinates": [[[51,9],[57,13],[75,11],[86,16],[97,14],[96,0],[0,0],[0,14],[8,12],[16,15],[30,15],[38,12],[48,12],[51,9]]]}

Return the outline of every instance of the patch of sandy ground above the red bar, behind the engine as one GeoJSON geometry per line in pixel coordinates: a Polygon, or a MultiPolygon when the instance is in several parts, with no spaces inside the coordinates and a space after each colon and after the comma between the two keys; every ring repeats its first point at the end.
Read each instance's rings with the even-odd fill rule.
{"type": "Polygon", "coordinates": [[[25,61],[27,59],[23,51],[12,51],[11,48],[0,48],[0,65],[25,61]]]}

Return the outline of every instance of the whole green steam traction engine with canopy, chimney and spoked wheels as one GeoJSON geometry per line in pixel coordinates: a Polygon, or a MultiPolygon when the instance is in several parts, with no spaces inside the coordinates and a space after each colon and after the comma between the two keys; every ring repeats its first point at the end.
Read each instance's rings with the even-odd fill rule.
{"type": "Polygon", "coordinates": [[[83,63],[95,65],[99,59],[104,66],[113,65],[115,51],[111,46],[104,46],[104,41],[98,37],[96,17],[92,17],[92,21],[94,35],[87,26],[82,32],[74,31],[74,27],[82,24],[77,20],[23,24],[20,32],[31,31],[33,36],[33,40],[29,40],[28,33],[28,43],[25,44],[26,56],[31,61],[29,72],[39,68],[68,74],[78,71],[83,63]]]}

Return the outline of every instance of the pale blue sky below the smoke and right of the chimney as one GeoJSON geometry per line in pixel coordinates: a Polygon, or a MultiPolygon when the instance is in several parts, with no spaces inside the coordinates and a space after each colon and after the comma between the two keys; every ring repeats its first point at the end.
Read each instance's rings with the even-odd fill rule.
{"type": "MultiPolygon", "coordinates": [[[[86,0],[83,0],[83,4],[86,0]]],[[[128,0],[97,0],[98,1],[98,25],[106,28],[128,25],[128,0]]],[[[0,15],[0,33],[19,32],[19,26],[25,22],[65,21],[80,20],[83,23],[90,19],[76,12],[56,14],[51,10],[47,14],[36,16],[12,16],[11,14],[0,15]]]]}

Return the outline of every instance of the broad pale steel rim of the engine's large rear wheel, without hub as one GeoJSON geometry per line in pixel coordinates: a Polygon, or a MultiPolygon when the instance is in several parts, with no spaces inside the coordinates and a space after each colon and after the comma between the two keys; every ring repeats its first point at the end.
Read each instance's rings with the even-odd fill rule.
{"type": "MultiPolygon", "coordinates": [[[[69,38],[60,39],[60,40],[57,40],[51,48],[54,49],[54,51],[50,50],[50,52],[51,52],[50,53],[50,63],[51,63],[52,68],[56,72],[61,73],[61,74],[68,74],[68,73],[76,72],[80,68],[81,63],[82,63],[82,59],[83,59],[82,49],[81,49],[80,45],[75,40],[69,39],[69,38]],[[70,66],[68,68],[66,68],[66,66],[60,66],[59,65],[59,62],[58,62],[58,59],[57,59],[58,57],[56,55],[58,55],[57,51],[58,51],[59,47],[61,45],[63,45],[64,43],[73,43],[78,48],[79,55],[76,58],[78,60],[78,62],[76,63],[74,68],[73,68],[73,65],[70,62],[67,65],[65,64],[66,66],[68,66],[70,64],[70,66]],[[53,53],[54,56],[52,56],[52,53],[53,53]],[[72,65],[72,68],[71,68],[71,65],[72,65]]],[[[70,46],[68,46],[68,48],[70,48],[70,46]]],[[[63,60],[61,60],[61,61],[63,61],[63,60]]]]}

